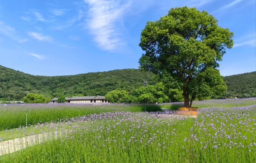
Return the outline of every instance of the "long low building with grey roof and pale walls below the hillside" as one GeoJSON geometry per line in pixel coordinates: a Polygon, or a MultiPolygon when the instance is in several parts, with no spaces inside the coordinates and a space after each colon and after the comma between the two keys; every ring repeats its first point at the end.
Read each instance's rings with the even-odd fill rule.
{"type": "MultiPolygon", "coordinates": [[[[58,102],[58,98],[53,98],[49,101],[50,103],[58,102]]],[[[66,97],[66,102],[70,103],[108,103],[108,100],[105,100],[105,96],[82,96],[82,97],[66,97]]]]}

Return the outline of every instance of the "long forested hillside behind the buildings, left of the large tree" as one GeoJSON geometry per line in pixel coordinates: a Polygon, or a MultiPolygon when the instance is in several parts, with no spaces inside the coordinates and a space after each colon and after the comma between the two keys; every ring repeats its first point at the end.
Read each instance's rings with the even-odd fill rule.
{"type": "Polygon", "coordinates": [[[153,74],[138,69],[122,69],[68,76],[34,76],[0,66],[0,100],[22,100],[30,92],[46,97],[105,95],[117,88],[128,92],[147,81],[153,74]]]}

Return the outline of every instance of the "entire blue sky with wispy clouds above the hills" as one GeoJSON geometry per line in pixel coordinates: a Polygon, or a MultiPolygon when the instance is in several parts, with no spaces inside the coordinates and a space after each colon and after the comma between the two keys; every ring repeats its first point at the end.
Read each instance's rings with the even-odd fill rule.
{"type": "Polygon", "coordinates": [[[255,0],[0,1],[0,65],[32,75],[138,68],[146,22],[180,6],[206,10],[234,32],[223,76],[256,71],[255,0]]]}

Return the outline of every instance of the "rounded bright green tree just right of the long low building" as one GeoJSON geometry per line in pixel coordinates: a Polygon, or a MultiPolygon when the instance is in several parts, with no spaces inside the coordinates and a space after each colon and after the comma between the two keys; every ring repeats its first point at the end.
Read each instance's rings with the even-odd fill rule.
{"type": "Polygon", "coordinates": [[[131,99],[125,90],[112,90],[105,95],[106,100],[111,103],[130,103],[131,99]]]}

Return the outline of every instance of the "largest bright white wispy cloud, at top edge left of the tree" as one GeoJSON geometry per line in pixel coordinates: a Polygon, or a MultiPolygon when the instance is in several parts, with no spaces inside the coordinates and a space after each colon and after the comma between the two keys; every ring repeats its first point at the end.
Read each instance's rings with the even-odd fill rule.
{"type": "Polygon", "coordinates": [[[124,45],[121,37],[120,22],[130,3],[117,1],[85,0],[89,5],[88,29],[94,35],[94,41],[104,50],[117,49],[124,45]]]}

